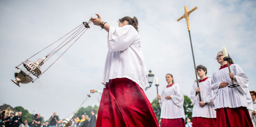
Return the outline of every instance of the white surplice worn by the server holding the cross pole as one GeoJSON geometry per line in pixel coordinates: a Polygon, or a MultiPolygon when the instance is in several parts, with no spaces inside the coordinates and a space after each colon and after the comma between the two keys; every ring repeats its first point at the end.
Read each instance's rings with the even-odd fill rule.
{"type": "Polygon", "coordinates": [[[199,94],[196,94],[197,83],[193,84],[192,90],[190,91],[190,98],[192,99],[191,105],[194,105],[192,117],[216,118],[216,111],[214,110],[214,98],[216,94],[210,88],[211,80],[211,78],[208,78],[199,83],[201,99],[207,103],[203,107],[199,105],[199,94]]]}

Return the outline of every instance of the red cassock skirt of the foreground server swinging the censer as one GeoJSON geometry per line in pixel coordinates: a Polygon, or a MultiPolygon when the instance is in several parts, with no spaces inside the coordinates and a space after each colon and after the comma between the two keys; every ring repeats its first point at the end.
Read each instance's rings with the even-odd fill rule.
{"type": "Polygon", "coordinates": [[[159,127],[151,103],[137,83],[109,79],[103,90],[96,127],[159,127]]]}

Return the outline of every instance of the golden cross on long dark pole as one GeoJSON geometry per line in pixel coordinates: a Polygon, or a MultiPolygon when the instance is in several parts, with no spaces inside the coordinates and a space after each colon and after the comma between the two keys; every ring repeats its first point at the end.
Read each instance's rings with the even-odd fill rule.
{"type": "MultiPolygon", "coordinates": [[[[177,19],[177,21],[179,21],[179,20],[181,20],[181,19],[183,19],[183,18],[185,18],[186,21],[187,21],[187,26],[188,26],[188,31],[189,31],[190,45],[191,45],[192,56],[193,56],[193,61],[194,61],[194,68],[195,68],[196,79],[197,79],[197,68],[196,68],[196,62],[195,62],[194,51],[193,51],[193,46],[192,46],[192,41],[191,41],[191,36],[190,36],[190,27],[189,27],[189,14],[190,14],[191,12],[193,12],[194,10],[196,10],[196,9],[197,9],[197,6],[194,7],[192,10],[190,10],[189,12],[188,12],[188,10],[187,10],[187,6],[184,6],[184,9],[185,9],[184,15],[181,16],[179,19],[177,19]]],[[[197,79],[197,87],[199,87],[198,79],[197,79]]],[[[200,93],[200,92],[198,92],[198,96],[199,96],[199,100],[202,101],[202,99],[201,99],[201,93],[200,93]]]]}

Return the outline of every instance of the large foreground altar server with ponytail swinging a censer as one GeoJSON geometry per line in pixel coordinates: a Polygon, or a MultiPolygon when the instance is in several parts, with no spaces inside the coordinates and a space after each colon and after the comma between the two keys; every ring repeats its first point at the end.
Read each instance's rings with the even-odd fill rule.
{"type": "MultiPolygon", "coordinates": [[[[136,17],[119,19],[119,27],[90,20],[108,34],[102,93],[96,127],[157,127],[158,121],[144,90],[147,70],[136,17]]],[[[99,30],[99,32],[102,32],[99,30]]]]}

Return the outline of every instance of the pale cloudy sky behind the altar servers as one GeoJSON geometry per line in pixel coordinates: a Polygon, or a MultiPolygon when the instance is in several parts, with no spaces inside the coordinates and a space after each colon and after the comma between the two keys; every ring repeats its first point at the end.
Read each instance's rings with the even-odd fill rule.
{"type": "MultiPolygon", "coordinates": [[[[158,77],[159,93],[167,85],[165,75],[171,73],[183,94],[189,96],[196,79],[189,33],[185,19],[177,22],[184,14],[185,5],[188,11],[198,7],[189,15],[196,65],[206,66],[207,76],[212,77],[220,68],[216,55],[225,45],[234,63],[249,77],[249,90],[256,90],[255,0],[0,0],[0,105],[22,106],[30,113],[40,113],[44,120],[54,111],[59,118],[65,118],[80,106],[91,89],[103,90],[101,78],[108,33],[93,23],[34,83],[20,83],[18,87],[10,80],[15,79],[15,66],[91,16],[96,17],[95,13],[111,26],[118,26],[118,19],[124,16],[136,16],[147,70],[151,69],[158,77]]],[[[43,58],[58,44],[30,60],[43,58]]],[[[63,47],[45,62],[41,71],[66,49],[63,47]]],[[[155,99],[155,81],[145,93],[149,101],[155,99]]],[[[96,93],[82,107],[89,105],[99,105],[96,93]]]]}

